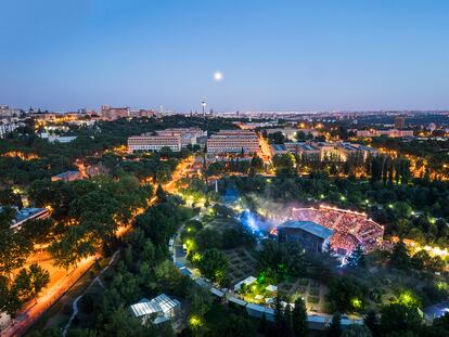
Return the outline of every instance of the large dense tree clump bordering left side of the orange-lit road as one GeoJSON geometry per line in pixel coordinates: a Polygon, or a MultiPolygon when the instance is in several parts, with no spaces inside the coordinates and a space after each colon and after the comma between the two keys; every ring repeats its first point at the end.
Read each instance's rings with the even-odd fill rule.
{"type": "Polygon", "coordinates": [[[151,193],[150,185],[140,186],[130,176],[70,183],[36,182],[29,192],[38,206],[51,206],[52,217],[64,226],[49,251],[55,264],[66,269],[113,244],[116,230],[128,224],[134,209],[146,205],[151,193]]]}

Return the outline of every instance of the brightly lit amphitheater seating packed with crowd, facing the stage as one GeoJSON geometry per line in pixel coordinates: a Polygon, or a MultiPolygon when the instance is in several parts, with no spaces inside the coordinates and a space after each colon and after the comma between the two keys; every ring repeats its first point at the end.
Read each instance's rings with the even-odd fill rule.
{"type": "Polygon", "coordinates": [[[293,208],[292,219],[313,221],[334,230],[331,247],[339,255],[346,255],[357,245],[370,251],[382,244],[384,228],[367,215],[334,207],[293,208]]]}

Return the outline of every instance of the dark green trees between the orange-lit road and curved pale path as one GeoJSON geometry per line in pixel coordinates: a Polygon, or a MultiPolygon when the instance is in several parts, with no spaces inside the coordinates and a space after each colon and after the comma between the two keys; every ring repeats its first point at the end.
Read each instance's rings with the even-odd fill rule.
{"type": "Polygon", "coordinates": [[[119,261],[102,275],[105,289],[82,298],[79,308],[84,319],[74,321],[76,333],[93,332],[97,336],[172,336],[169,324],[157,327],[142,325],[127,310],[129,304],[142,297],[151,298],[161,293],[187,299],[196,311],[198,308],[208,310],[210,295],[207,290],[197,288],[168,259],[168,241],[165,237],[171,237],[181,223],[191,217],[191,210],[174,204],[170,198],[138,217],[134,229],[124,239],[119,261]],[[197,291],[202,291],[201,295],[197,291]],[[203,306],[204,301],[206,304],[203,306]]]}

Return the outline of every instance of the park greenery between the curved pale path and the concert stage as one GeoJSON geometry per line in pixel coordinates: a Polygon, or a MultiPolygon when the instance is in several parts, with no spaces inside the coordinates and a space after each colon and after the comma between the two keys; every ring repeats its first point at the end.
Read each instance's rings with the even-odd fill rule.
{"type": "Polygon", "coordinates": [[[266,289],[271,284],[279,286],[287,301],[303,298],[307,308],[315,311],[364,315],[388,306],[422,309],[449,295],[445,261],[425,250],[411,254],[402,242],[388,254],[365,255],[360,246],[356,247],[343,274],[330,252],[309,256],[294,244],[266,239],[257,250],[254,244],[242,242],[229,249],[223,244],[227,242],[223,229],[233,226],[242,231],[242,226],[233,217],[226,216],[226,209],[220,215],[214,210],[223,207],[210,208],[206,220],[192,222],[181,237],[188,244],[191,262],[206,278],[230,286],[248,275],[256,276],[254,284],[243,285],[239,291],[247,301],[265,303],[266,299],[272,299],[274,294],[266,289]],[[201,263],[205,256],[210,269],[201,263]]]}

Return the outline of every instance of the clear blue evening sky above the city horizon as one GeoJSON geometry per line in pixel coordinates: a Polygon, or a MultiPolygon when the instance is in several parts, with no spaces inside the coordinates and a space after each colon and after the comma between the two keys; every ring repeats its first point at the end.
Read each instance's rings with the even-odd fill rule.
{"type": "Polygon", "coordinates": [[[0,104],[449,108],[447,0],[0,0],[0,104]]]}

